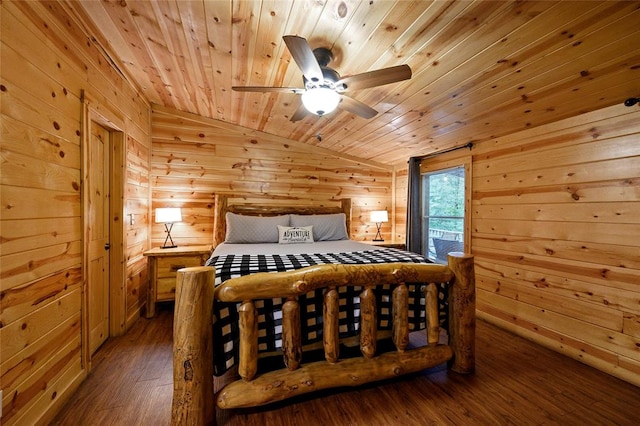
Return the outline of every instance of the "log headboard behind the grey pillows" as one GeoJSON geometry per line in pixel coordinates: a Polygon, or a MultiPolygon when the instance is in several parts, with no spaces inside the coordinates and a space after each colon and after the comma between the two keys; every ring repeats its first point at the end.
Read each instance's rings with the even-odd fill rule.
{"type": "Polygon", "coordinates": [[[281,214],[332,214],[344,213],[347,218],[347,235],[351,235],[351,199],[343,198],[336,201],[333,206],[300,206],[300,205],[256,205],[242,203],[238,195],[216,194],[215,212],[213,218],[213,246],[224,242],[227,233],[226,214],[236,213],[248,216],[277,216],[281,214]],[[234,202],[231,203],[230,199],[234,202]],[[236,201],[237,200],[237,201],[236,201]]]}

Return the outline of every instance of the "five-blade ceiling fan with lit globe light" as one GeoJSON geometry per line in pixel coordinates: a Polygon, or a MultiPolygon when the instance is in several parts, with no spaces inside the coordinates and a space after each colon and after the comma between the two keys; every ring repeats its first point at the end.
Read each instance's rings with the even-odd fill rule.
{"type": "Polygon", "coordinates": [[[323,47],[311,50],[307,40],[298,36],[287,35],[283,39],[298,68],[302,71],[304,88],[234,86],[232,89],[239,92],[288,92],[302,95],[302,105],[291,116],[291,121],[294,122],[302,120],[307,112],[323,116],[336,108],[363,118],[373,118],[378,111],[345,93],[411,78],[411,68],[408,65],[382,68],[341,78],[340,74],[328,67],[333,59],[331,50],[323,47]]]}

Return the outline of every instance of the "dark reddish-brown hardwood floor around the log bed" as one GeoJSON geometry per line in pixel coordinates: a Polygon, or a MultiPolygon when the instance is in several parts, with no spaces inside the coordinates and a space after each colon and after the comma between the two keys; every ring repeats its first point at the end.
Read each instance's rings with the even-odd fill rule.
{"type": "MultiPolygon", "coordinates": [[[[171,305],[98,351],[55,425],[167,425],[171,305]]],[[[219,425],[638,425],[640,388],[479,321],[473,375],[435,368],[358,389],[218,411],[219,425]]]]}

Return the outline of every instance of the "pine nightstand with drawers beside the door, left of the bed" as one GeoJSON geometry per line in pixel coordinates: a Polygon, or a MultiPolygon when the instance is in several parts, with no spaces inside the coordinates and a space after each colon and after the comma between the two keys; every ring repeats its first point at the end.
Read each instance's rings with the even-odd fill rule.
{"type": "Polygon", "coordinates": [[[156,302],[175,300],[178,269],[203,266],[210,254],[211,246],[157,247],[144,252],[149,258],[147,318],[155,316],[156,302]]]}

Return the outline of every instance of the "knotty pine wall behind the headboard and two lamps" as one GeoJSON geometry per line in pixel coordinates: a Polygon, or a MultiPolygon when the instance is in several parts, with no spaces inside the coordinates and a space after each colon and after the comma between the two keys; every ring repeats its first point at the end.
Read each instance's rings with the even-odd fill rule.
{"type": "MultiPolygon", "coordinates": [[[[171,232],[178,245],[211,244],[214,194],[270,205],[327,205],[351,198],[351,238],[373,239],[371,210],[388,210],[393,227],[393,167],[240,126],[153,106],[152,207],[181,207],[171,232]]],[[[163,225],[153,224],[153,246],[163,225]]]]}

